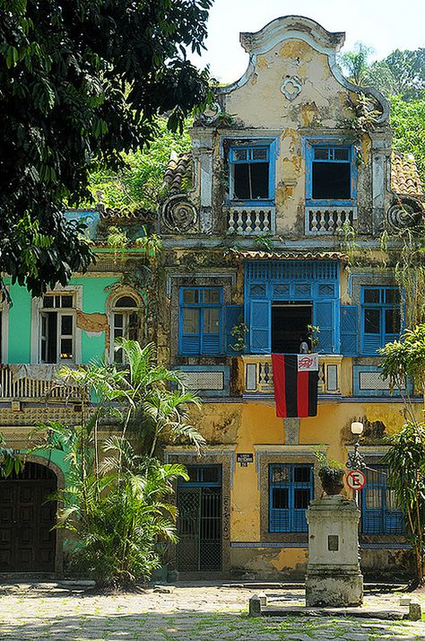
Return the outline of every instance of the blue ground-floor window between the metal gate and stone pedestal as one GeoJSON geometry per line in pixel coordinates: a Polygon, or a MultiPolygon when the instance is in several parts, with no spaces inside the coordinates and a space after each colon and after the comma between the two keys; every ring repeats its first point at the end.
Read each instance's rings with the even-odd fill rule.
{"type": "Polygon", "coordinates": [[[313,465],[269,465],[269,531],[307,532],[306,510],[313,498],[313,465]]]}

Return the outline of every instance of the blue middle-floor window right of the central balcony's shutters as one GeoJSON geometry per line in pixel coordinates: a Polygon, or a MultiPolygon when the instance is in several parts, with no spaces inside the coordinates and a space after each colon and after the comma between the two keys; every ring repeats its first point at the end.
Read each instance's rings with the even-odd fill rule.
{"type": "Polygon", "coordinates": [[[386,343],[399,338],[401,330],[398,287],[361,288],[361,353],[377,355],[386,343]]]}

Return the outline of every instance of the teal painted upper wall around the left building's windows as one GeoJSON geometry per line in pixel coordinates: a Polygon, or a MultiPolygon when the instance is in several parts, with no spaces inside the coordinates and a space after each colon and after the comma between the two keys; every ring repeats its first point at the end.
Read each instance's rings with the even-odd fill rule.
{"type": "MultiPolygon", "coordinates": [[[[82,285],[82,312],[105,313],[109,291],[105,288],[117,283],[117,277],[72,278],[70,285],[82,285]]],[[[13,305],[9,310],[8,363],[30,363],[31,297],[24,287],[11,285],[9,292],[13,305]]],[[[105,332],[99,336],[82,330],[82,363],[102,358],[105,353],[105,332]]]]}

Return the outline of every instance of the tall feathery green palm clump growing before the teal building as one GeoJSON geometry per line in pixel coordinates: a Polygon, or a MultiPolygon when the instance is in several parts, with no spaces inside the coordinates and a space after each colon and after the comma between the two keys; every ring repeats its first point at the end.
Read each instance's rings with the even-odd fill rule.
{"type": "Polygon", "coordinates": [[[70,467],[59,527],[74,533],[75,569],[100,585],[132,584],[160,565],[157,542],[175,540],[176,509],[167,502],[172,482],[186,479],[179,465],[163,465],[155,456],[162,441],[181,439],[198,448],[204,439],[188,422],[189,405],[198,405],[179,386],[178,373],[157,363],[155,347],[117,340],[126,367],[91,364],[61,375],[82,391],[82,422],[68,427],[41,424],[34,449],[65,452],[70,467]],[[100,438],[102,426],[117,431],[100,438]],[[134,449],[137,443],[137,453],[134,449]]]}

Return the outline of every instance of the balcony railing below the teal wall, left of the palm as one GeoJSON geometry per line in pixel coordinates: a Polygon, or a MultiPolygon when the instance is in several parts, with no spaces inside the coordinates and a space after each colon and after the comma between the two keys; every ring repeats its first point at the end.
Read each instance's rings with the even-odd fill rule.
{"type": "Polygon", "coordinates": [[[56,377],[57,365],[4,365],[0,370],[1,400],[76,400],[83,391],[56,377]]]}

